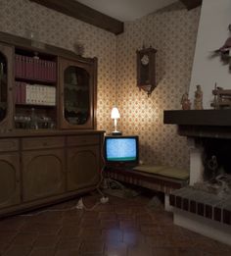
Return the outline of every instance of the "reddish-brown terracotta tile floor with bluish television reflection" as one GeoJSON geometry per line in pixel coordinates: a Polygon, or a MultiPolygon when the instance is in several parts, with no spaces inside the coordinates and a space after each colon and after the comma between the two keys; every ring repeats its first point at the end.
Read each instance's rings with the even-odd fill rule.
{"type": "MultiPolygon", "coordinates": [[[[0,255],[231,255],[230,246],[174,226],[172,214],[162,206],[148,206],[150,197],[109,198],[108,204],[99,204],[92,211],[69,210],[76,198],[42,209],[49,210],[46,212],[0,221],[0,255]]],[[[98,194],[83,196],[88,207],[99,199],[98,194]]]]}

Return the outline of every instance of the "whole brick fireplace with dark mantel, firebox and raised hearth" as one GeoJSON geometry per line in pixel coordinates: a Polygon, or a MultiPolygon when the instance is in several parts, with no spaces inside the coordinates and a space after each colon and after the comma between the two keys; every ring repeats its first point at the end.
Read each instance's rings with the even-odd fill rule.
{"type": "Polygon", "coordinates": [[[164,111],[190,147],[190,184],[169,196],[174,224],[231,245],[231,110],[164,111]]]}

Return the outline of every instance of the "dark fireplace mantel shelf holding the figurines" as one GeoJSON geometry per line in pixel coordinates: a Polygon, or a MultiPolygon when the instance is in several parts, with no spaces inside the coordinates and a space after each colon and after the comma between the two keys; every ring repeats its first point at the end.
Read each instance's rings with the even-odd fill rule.
{"type": "Polygon", "coordinates": [[[231,109],[165,110],[163,124],[177,125],[183,136],[231,138],[231,109]]]}

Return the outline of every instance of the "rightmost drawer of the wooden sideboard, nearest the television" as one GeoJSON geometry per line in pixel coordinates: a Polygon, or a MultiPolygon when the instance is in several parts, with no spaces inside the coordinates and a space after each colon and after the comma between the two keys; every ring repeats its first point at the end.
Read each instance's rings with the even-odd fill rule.
{"type": "Polygon", "coordinates": [[[68,136],[68,146],[93,145],[99,143],[99,135],[68,136]]]}

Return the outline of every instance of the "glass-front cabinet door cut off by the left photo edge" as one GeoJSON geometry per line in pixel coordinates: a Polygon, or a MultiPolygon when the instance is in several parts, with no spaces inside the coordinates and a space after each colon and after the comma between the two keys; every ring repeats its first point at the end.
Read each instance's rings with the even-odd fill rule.
{"type": "Polygon", "coordinates": [[[0,44],[0,130],[13,127],[13,48],[0,44]]]}

